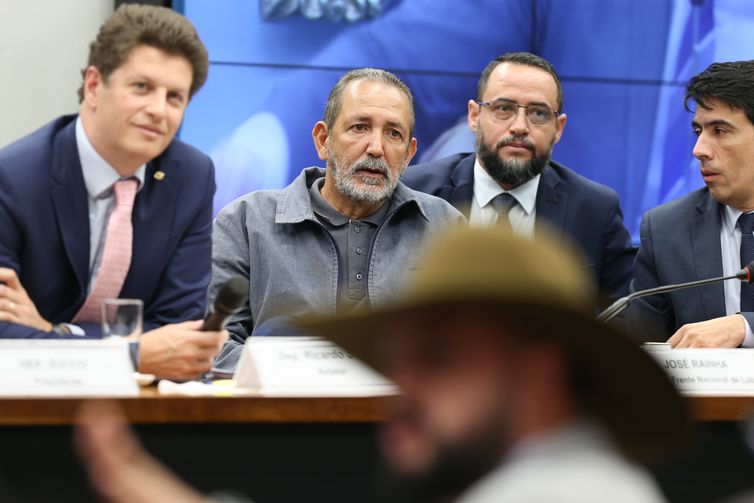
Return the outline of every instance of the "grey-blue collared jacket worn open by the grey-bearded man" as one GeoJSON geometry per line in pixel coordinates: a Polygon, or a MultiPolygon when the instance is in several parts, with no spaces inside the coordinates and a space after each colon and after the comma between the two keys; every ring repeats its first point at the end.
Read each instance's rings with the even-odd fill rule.
{"type": "MultiPolygon", "coordinates": [[[[228,322],[230,338],[215,361],[217,368],[235,368],[249,335],[291,334],[288,317],[335,312],[340,257],[309,195],[324,173],[307,168],[288,187],[247,194],[215,218],[208,305],[229,278],[242,276],[250,284],[247,305],[228,322]]],[[[398,204],[375,233],[369,252],[367,297],[373,307],[390,301],[416,271],[429,235],[463,221],[447,202],[402,183],[393,198],[398,204]]]]}

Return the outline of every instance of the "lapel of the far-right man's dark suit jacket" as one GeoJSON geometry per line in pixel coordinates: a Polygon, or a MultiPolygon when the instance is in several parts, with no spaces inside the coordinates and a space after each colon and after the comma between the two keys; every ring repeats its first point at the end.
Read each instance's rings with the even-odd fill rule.
{"type": "MultiPolygon", "coordinates": [[[[723,255],[720,249],[720,211],[708,192],[691,220],[691,248],[696,278],[714,278],[723,275],[723,255]],[[715,245],[716,243],[716,245],[715,245]],[[710,246],[712,244],[712,246],[710,246]]],[[[707,319],[725,316],[725,289],[722,282],[699,288],[702,306],[707,319]]]]}

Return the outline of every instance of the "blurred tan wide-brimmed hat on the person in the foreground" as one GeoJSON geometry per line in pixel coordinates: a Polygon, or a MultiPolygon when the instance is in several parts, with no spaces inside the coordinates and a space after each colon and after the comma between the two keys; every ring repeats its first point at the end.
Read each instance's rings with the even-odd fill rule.
{"type": "Polygon", "coordinates": [[[584,374],[580,403],[586,414],[608,427],[627,456],[656,459],[685,435],[685,403],[643,349],[595,320],[596,291],[573,250],[547,233],[532,242],[503,228],[457,228],[428,247],[422,268],[390,306],[296,324],[383,371],[390,355],[380,341],[402,314],[492,303],[502,319],[562,344],[584,374]]]}

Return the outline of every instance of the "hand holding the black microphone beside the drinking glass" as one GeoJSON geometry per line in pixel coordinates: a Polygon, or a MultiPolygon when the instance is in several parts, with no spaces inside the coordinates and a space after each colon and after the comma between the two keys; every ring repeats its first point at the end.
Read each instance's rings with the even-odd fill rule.
{"type": "Polygon", "coordinates": [[[228,332],[202,332],[202,321],[151,330],[139,343],[139,372],[178,381],[199,378],[212,368],[228,332]]]}

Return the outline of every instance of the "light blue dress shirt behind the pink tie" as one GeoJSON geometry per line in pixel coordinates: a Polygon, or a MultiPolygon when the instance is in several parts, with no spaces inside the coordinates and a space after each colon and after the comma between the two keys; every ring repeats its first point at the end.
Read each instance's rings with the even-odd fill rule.
{"type": "MultiPolygon", "coordinates": [[[[102,261],[107,222],[115,207],[113,184],[122,177],[94,150],[86,136],[86,131],[84,131],[81,117],[76,119],[76,146],[78,147],[81,170],[84,175],[84,185],[89,195],[87,198],[89,207],[89,285],[87,292],[90,292],[97,279],[100,262],[102,261]]],[[[145,171],[146,165],[142,165],[133,175],[139,181],[139,190],[144,186],[145,171]]]]}

